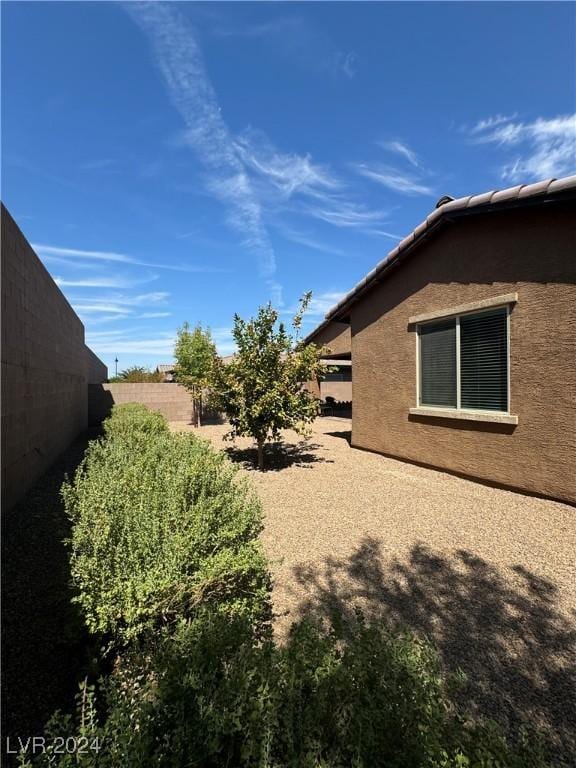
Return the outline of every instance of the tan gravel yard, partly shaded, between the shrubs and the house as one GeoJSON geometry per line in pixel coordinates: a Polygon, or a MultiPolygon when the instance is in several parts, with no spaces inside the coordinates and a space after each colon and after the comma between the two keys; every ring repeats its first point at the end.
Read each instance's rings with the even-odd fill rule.
{"type": "Polygon", "coordinates": [[[262,499],[280,639],[302,615],[359,605],[432,638],[468,674],[473,710],[537,723],[576,761],[574,508],[350,448],[345,419],[317,420],[306,442],[287,432],[265,472],[250,440],[230,451],[227,429],[194,431],[262,499]]]}

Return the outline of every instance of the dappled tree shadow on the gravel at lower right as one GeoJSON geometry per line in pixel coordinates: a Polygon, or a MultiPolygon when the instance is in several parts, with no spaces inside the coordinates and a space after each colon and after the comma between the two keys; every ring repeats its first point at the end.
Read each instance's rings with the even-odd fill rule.
{"type": "Polygon", "coordinates": [[[294,570],[307,593],[301,615],[346,622],[359,605],[425,634],[449,670],[467,674],[460,696],[472,712],[511,734],[542,727],[560,764],[576,764],[576,624],[553,583],[464,550],[447,558],[417,545],[386,560],[371,538],[348,559],[294,570]]]}

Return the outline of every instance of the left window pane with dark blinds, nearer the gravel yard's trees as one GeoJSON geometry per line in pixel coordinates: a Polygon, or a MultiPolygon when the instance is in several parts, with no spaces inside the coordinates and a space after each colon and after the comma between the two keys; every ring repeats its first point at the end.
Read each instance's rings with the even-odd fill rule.
{"type": "Polygon", "coordinates": [[[420,328],[420,403],[456,408],[456,321],[420,328]]]}

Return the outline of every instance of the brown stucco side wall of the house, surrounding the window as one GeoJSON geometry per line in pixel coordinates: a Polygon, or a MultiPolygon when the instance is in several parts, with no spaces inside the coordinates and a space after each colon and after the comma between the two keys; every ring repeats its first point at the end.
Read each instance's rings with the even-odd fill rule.
{"type": "Polygon", "coordinates": [[[572,202],[454,222],[352,307],[354,446],[576,502],[575,214],[572,202]],[[518,425],[410,415],[409,317],[513,292],[518,425]]]}

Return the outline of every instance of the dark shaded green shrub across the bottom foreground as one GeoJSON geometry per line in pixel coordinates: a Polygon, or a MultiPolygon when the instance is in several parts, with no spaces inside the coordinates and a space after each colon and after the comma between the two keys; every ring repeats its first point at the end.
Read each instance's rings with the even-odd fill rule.
{"type": "MultiPolygon", "coordinates": [[[[362,620],[346,641],[300,622],[282,647],[259,641],[245,618],[203,609],[128,653],[103,703],[103,726],[78,718],[98,738],[100,768],[546,765],[538,745],[512,748],[494,724],[458,714],[427,643],[362,620]]],[[[51,726],[74,730],[71,718],[51,726]]]]}

